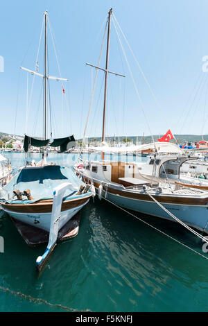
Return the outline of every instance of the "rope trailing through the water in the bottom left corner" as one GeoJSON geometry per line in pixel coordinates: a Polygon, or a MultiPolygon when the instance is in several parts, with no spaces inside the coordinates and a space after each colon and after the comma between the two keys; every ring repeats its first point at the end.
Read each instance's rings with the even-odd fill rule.
{"type": "MultiPolygon", "coordinates": [[[[19,296],[21,298],[27,299],[27,300],[32,301],[32,302],[35,302],[35,303],[43,303],[43,304],[46,304],[49,307],[57,307],[57,308],[60,308],[60,309],[63,309],[63,310],[71,311],[71,312],[79,312],[78,309],[69,308],[69,307],[63,306],[62,304],[53,304],[53,303],[48,302],[48,301],[46,301],[44,299],[41,299],[41,298],[33,298],[31,295],[26,295],[26,294],[21,293],[19,291],[12,291],[12,290],[10,290],[8,288],[5,288],[3,286],[0,286],[0,290],[3,291],[3,292],[10,293],[12,295],[19,296]]],[[[82,310],[82,311],[88,312],[90,310],[87,309],[87,310],[82,310]]]]}

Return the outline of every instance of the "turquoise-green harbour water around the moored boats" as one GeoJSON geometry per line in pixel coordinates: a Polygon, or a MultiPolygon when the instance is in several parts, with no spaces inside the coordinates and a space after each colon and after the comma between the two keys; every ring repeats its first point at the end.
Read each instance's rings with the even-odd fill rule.
{"type": "MultiPolygon", "coordinates": [[[[24,154],[6,155],[13,166],[24,162],[24,154]]],[[[51,162],[74,159],[49,154],[51,162]]],[[[202,253],[202,242],[180,225],[146,219],[202,253]]],[[[29,248],[6,214],[0,235],[0,311],[64,311],[53,304],[78,311],[208,311],[208,261],[103,200],[84,207],[78,236],[56,246],[40,277],[35,260],[45,246],[29,248]]]]}

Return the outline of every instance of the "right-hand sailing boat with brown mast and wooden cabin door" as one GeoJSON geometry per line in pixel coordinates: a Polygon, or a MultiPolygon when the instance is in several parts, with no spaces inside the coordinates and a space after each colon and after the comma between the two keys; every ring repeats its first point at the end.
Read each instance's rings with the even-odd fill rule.
{"type": "MultiPolygon", "coordinates": [[[[102,141],[105,141],[105,106],[107,98],[108,58],[110,46],[110,22],[112,9],[108,12],[108,33],[105,74],[105,92],[103,105],[103,133],[102,141]]],[[[93,66],[94,67],[94,66],[93,66]]],[[[96,69],[100,69],[96,67],[96,69]]],[[[177,147],[174,144],[154,143],[149,148],[154,151],[162,146],[177,147]]],[[[146,145],[148,148],[148,145],[146,145]]],[[[80,160],[75,166],[76,175],[80,175],[83,181],[91,183],[96,189],[98,197],[106,198],[114,205],[125,207],[148,215],[166,218],[175,221],[174,216],[186,225],[208,233],[208,193],[200,189],[190,189],[171,185],[165,180],[144,178],[139,173],[136,164],[127,162],[110,162],[105,160],[105,153],[113,150],[119,153],[120,149],[103,146],[100,148],[102,161],[80,160]],[[162,204],[162,205],[161,205],[162,204]],[[172,214],[172,216],[171,216],[172,214]]],[[[128,151],[127,149],[125,151],[128,151]]],[[[166,150],[168,153],[168,150],[166,150]]],[[[154,166],[157,164],[155,162],[154,166]]]]}

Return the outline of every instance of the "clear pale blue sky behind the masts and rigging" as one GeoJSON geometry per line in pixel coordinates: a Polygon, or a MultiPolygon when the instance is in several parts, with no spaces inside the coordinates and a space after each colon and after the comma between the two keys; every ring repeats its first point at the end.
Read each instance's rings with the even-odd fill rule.
{"type": "MultiPolygon", "coordinates": [[[[5,60],[4,72],[0,73],[1,132],[12,133],[15,130],[17,134],[24,135],[26,72],[21,71],[19,66],[34,69],[43,12],[47,9],[55,35],[62,77],[69,78],[69,83],[65,86],[65,96],[69,98],[70,112],[66,105],[62,105],[61,84],[52,80],[50,82],[54,135],[62,137],[71,132],[76,138],[82,137],[92,78],[95,76],[95,71],[86,67],[85,62],[96,65],[98,61],[103,22],[111,7],[161,107],[159,111],[125,45],[151,132],[163,134],[171,128],[175,134],[200,134],[202,131],[208,133],[205,123],[208,121],[208,73],[206,75],[201,72],[202,57],[208,55],[207,0],[1,1],[0,55],[5,60]],[[192,99],[189,98],[190,94],[192,99]],[[205,128],[202,130],[203,121],[205,128]]],[[[41,46],[40,72],[43,69],[42,51],[41,46]]],[[[101,60],[102,66],[105,65],[104,59],[103,57],[101,60]]],[[[50,39],[49,66],[51,74],[56,76],[58,68],[50,39]]],[[[121,74],[124,72],[126,77],[110,76],[106,134],[142,135],[145,132],[149,135],[113,24],[110,69],[121,74]]],[[[32,79],[30,75],[29,87],[32,79]]],[[[101,135],[102,80],[101,72],[98,75],[87,129],[87,135],[92,137],[101,135]]],[[[41,83],[42,80],[36,77],[28,117],[28,134],[42,135],[41,83]]]]}

